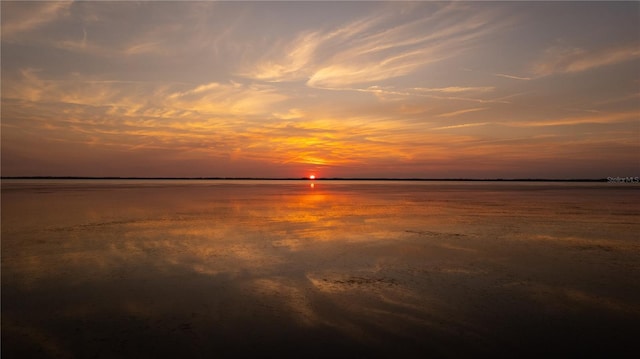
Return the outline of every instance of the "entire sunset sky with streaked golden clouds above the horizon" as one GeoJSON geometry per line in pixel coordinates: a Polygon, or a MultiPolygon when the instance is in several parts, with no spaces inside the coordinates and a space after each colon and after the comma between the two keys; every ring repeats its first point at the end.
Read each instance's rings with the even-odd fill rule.
{"type": "Polygon", "coordinates": [[[640,175],[640,2],[1,11],[2,176],[640,175]]]}

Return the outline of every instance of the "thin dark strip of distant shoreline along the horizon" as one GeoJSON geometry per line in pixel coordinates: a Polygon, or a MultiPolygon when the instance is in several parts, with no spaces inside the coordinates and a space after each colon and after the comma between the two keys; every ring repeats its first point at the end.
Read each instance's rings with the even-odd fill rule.
{"type": "Polygon", "coordinates": [[[554,178],[353,178],[353,177],[320,177],[309,179],[307,177],[84,177],[84,176],[7,176],[0,177],[2,180],[28,179],[28,180],[242,180],[242,181],[407,181],[407,182],[607,182],[606,178],[588,179],[554,179],[554,178]]]}

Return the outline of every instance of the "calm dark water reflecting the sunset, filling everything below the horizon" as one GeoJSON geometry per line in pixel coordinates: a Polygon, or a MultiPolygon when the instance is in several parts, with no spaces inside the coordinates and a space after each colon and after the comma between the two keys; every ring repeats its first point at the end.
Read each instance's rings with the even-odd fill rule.
{"type": "Polygon", "coordinates": [[[2,358],[636,357],[640,187],[2,181],[2,358]]]}

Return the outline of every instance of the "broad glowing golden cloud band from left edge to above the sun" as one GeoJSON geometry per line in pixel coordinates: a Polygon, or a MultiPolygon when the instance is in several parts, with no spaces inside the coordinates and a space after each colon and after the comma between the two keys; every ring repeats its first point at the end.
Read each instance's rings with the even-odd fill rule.
{"type": "MultiPolygon", "coordinates": [[[[434,144],[425,144],[431,137],[419,124],[399,126],[380,115],[331,116],[288,108],[282,104],[286,97],[266,85],[158,86],[81,77],[55,81],[32,69],[24,71],[22,81],[29,86],[10,86],[11,92],[3,94],[11,119],[3,122],[4,128],[22,119],[12,104],[27,102],[23,106],[37,109],[39,116],[23,123],[22,130],[69,148],[341,167],[408,161],[427,150],[436,157],[446,147],[435,135],[429,135],[434,144]]],[[[449,135],[444,138],[453,141],[449,135]]]]}

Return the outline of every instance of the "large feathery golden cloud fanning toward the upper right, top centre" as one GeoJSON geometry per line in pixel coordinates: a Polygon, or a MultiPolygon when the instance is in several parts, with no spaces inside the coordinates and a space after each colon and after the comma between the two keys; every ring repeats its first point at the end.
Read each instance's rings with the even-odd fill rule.
{"type": "Polygon", "coordinates": [[[388,11],[337,29],[299,34],[289,43],[275,44],[238,74],[267,81],[306,81],[310,87],[325,89],[379,82],[456,56],[500,26],[491,12],[451,4],[429,10],[429,15],[408,21],[403,21],[406,13],[388,11]]]}

